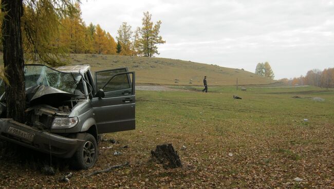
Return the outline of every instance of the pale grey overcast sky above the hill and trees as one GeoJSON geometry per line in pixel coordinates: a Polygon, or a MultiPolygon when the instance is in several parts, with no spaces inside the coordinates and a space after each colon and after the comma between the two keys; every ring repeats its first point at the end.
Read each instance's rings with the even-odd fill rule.
{"type": "Polygon", "coordinates": [[[334,1],[82,1],[82,17],[116,39],[122,22],[135,30],[143,12],[162,21],[156,57],[254,72],[269,62],[275,79],[334,67],[334,1]]]}

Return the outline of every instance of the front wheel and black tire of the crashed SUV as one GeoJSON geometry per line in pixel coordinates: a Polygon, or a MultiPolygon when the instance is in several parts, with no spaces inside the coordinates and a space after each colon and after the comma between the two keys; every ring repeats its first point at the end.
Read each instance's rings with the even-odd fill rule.
{"type": "Polygon", "coordinates": [[[79,146],[72,157],[72,165],[76,169],[89,169],[95,165],[98,159],[99,152],[96,139],[86,133],[83,140],[85,142],[79,146]]]}

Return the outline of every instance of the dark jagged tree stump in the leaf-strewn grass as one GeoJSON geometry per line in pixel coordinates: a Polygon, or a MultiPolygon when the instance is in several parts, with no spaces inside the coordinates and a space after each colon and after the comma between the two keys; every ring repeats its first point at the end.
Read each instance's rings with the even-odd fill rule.
{"type": "Polygon", "coordinates": [[[152,159],[163,165],[163,168],[182,167],[177,151],[174,150],[172,144],[157,145],[155,151],[151,150],[152,159]]]}

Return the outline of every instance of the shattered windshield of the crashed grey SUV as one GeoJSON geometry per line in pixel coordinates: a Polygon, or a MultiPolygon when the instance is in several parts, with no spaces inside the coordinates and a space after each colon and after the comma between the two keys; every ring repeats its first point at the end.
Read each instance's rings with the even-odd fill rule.
{"type": "Polygon", "coordinates": [[[80,74],[60,72],[44,65],[25,65],[24,76],[26,89],[44,85],[73,94],[81,83],[80,74]]]}

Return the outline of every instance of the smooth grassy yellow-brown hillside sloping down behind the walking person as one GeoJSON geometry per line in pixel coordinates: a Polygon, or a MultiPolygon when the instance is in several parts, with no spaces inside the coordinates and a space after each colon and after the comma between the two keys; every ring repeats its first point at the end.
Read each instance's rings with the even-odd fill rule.
{"type": "Polygon", "coordinates": [[[209,86],[269,84],[274,80],[259,77],[242,69],[226,68],[190,61],[137,56],[71,54],[71,64],[90,64],[92,70],[128,67],[136,71],[136,83],[159,85],[202,85],[207,75],[209,86]]]}

